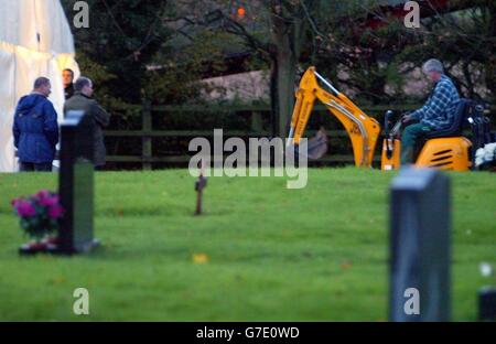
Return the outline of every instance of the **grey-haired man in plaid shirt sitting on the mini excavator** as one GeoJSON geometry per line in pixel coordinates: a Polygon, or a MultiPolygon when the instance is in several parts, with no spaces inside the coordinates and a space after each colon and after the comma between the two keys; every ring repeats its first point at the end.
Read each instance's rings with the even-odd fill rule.
{"type": "Polygon", "coordinates": [[[435,58],[427,61],[422,72],[434,83],[434,88],[420,109],[402,118],[407,126],[401,136],[401,164],[413,162],[416,142],[427,133],[449,128],[455,118],[460,95],[451,78],[444,74],[443,64],[435,58]]]}

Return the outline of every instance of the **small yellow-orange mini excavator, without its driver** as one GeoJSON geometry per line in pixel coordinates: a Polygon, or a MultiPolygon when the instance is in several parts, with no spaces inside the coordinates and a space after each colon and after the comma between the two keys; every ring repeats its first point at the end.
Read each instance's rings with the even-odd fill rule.
{"type": "MultiPolygon", "coordinates": [[[[322,77],[315,67],[310,67],[302,76],[295,94],[296,103],[291,119],[289,144],[299,148],[305,131],[315,100],[320,100],[328,111],[345,127],[353,146],[356,166],[371,168],[377,140],[381,133],[379,122],[362,111],[348,97],[338,92],[328,80],[322,77]],[[323,87],[321,87],[321,84],[323,87]],[[324,87],[326,89],[324,89],[324,87]]],[[[456,118],[451,128],[430,133],[416,159],[417,166],[436,168],[441,170],[468,171],[472,168],[472,142],[463,137],[462,128],[470,100],[459,104],[456,118]]],[[[385,139],[382,142],[381,169],[397,170],[400,166],[399,140],[401,120],[391,126],[392,111],[386,114],[385,139]]],[[[319,146],[327,144],[322,133],[317,133],[310,150],[319,150],[319,146]]],[[[320,149],[321,153],[325,150],[320,149]]],[[[317,155],[322,155],[317,153],[317,155]]],[[[315,154],[313,154],[315,155],[315,154]]],[[[320,157],[313,157],[317,159],[320,157]]]]}

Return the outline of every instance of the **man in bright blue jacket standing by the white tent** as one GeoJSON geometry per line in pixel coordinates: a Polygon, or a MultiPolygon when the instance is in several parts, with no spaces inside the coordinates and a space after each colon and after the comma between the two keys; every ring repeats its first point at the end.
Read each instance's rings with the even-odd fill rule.
{"type": "Polygon", "coordinates": [[[15,108],[13,136],[21,171],[52,171],[58,125],[47,99],[51,88],[50,79],[36,78],[33,92],[22,97],[15,108]]]}

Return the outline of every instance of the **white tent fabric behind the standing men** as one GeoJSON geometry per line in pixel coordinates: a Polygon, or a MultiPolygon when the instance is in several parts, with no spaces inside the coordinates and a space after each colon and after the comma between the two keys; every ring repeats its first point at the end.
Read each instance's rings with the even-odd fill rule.
{"type": "Polygon", "coordinates": [[[13,114],[36,77],[51,79],[50,100],[62,120],[64,68],[79,75],[73,35],[60,1],[0,0],[0,172],[17,171],[13,114]]]}

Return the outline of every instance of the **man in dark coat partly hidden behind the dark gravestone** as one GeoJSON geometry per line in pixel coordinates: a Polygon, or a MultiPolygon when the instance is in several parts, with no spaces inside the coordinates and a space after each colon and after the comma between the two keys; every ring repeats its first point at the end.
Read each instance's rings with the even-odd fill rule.
{"type": "Polygon", "coordinates": [[[82,110],[91,117],[95,151],[93,163],[97,170],[101,170],[106,160],[103,128],[108,126],[110,116],[91,98],[93,82],[89,78],[79,77],[74,84],[74,96],[64,104],[64,116],[68,111],[82,110]]]}

